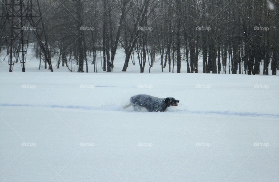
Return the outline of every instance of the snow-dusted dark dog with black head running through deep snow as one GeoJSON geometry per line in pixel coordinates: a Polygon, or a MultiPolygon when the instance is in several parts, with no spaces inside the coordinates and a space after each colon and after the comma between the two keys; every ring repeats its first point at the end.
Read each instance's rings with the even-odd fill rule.
{"type": "Polygon", "coordinates": [[[177,106],[179,100],[173,97],[158,98],[146,94],[138,94],[130,98],[130,103],[123,107],[123,109],[133,105],[134,110],[146,108],[148,112],[164,112],[170,106],[177,106]]]}

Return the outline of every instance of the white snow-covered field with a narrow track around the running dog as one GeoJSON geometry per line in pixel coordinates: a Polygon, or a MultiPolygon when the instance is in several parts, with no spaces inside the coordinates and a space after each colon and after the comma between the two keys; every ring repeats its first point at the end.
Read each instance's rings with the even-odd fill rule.
{"type": "Polygon", "coordinates": [[[28,64],[0,63],[0,181],[279,181],[278,76],[28,64]],[[122,109],[140,93],[180,103],[122,109]]]}

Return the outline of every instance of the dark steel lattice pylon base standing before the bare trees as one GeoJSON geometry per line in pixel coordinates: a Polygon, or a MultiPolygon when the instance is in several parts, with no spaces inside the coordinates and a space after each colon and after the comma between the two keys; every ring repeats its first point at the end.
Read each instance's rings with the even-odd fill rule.
{"type": "Polygon", "coordinates": [[[42,50],[44,60],[51,65],[50,50],[47,42],[42,13],[38,0],[2,0],[1,23],[3,23],[6,38],[6,50],[9,72],[18,60],[25,72],[25,60],[28,40],[33,34],[42,50]]]}

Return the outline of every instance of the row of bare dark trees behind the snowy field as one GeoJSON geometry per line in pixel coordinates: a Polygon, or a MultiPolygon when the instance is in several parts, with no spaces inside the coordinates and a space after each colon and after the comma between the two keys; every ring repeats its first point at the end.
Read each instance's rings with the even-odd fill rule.
{"type": "MultiPolygon", "coordinates": [[[[78,72],[88,72],[88,64],[95,72],[99,60],[103,71],[111,72],[121,49],[124,72],[135,61],[140,72],[148,62],[150,72],[159,60],[162,72],[174,72],[176,66],[180,73],[181,61],[186,61],[187,73],[197,73],[201,55],[203,73],[226,73],[228,67],[232,74],[260,74],[262,63],[263,74],[271,69],[276,75],[279,69],[279,0],[39,2],[57,68],[61,64],[74,71],[68,65],[74,61],[78,72]]],[[[1,32],[0,51],[4,51],[1,32]]],[[[40,47],[34,48],[44,61],[40,47]]]]}

